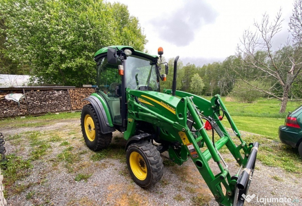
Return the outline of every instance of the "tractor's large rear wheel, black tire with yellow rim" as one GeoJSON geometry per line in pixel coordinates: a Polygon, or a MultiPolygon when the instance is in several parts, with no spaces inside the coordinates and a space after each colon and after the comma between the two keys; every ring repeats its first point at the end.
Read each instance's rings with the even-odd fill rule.
{"type": "Polygon", "coordinates": [[[81,128],[85,143],[92,151],[100,151],[108,147],[111,143],[112,132],[102,134],[100,122],[95,109],[91,104],[86,104],[82,108],[81,128]],[[86,123],[86,124],[85,124],[86,123]]]}

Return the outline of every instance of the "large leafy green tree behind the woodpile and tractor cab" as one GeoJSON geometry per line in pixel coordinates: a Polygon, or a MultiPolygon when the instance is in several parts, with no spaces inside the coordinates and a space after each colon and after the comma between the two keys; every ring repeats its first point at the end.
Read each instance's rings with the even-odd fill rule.
{"type": "MultiPolygon", "coordinates": [[[[7,55],[30,65],[38,83],[95,84],[102,45],[143,50],[146,37],[127,6],[101,0],[3,0],[7,55]]],[[[0,28],[0,31],[1,28],[0,28]]]]}

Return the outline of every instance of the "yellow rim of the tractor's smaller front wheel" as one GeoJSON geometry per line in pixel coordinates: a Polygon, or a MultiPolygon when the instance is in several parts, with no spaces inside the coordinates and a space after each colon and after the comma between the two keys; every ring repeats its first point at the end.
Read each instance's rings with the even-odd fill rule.
{"type": "Polygon", "coordinates": [[[144,180],[147,177],[147,165],[145,160],[138,152],[132,152],[129,158],[130,167],[133,174],[139,180],[144,180]]]}

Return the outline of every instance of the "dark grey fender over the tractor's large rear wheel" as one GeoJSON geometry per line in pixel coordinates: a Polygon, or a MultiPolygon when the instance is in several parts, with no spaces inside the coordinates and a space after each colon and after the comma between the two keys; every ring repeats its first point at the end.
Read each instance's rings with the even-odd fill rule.
{"type": "MultiPolygon", "coordinates": [[[[101,101],[96,97],[95,95],[91,95],[84,100],[87,100],[91,103],[93,108],[95,109],[95,112],[98,116],[98,119],[100,121],[100,127],[101,127],[101,133],[107,134],[110,132],[114,132],[115,128],[112,124],[111,117],[106,115],[106,111],[104,106],[101,104],[101,101]],[[109,121],[108,121],[109,120],[109,121]]],[[[108,110],[108,108],[106,108],[108,110]]]]}

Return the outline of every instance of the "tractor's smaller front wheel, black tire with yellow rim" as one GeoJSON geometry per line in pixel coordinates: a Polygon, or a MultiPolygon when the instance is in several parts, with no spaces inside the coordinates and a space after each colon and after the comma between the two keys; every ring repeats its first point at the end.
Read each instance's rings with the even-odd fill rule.
{"type": "Polygon", "coordinates": [[[132,179],[142,188],[148,188],[162,178],[164,167],[162,157],[151,142],[143,141],[130,144],[126,158],[132,179]],[[140,172],[142,173],[141,176],[138,174],[140,172]]]}

